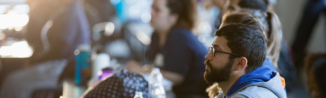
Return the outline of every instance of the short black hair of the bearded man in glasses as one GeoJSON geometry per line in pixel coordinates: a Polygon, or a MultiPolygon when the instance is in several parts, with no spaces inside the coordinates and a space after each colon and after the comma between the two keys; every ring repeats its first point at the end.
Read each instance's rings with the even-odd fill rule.
{"type": "MultiPolygon", "coordinates": [[[[232,53],[247,58],[246,73],[262,66],[266,58],[266,42],[261,34],[261,30],[247,24],[230,24],[215,32],[215,36],[224,36],[228,40],[232,53]]],[[[236,57],[231,55],[229,59],[236,57]]]]}

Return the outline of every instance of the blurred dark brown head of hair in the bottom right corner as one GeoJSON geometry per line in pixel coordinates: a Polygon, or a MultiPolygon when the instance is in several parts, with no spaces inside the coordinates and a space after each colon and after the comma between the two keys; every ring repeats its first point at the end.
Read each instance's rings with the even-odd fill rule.
{"type": "Polygon", "coordinates": [[[326,97],[326,54],[311,54],[305,59],[310,98],[326,97]]]}

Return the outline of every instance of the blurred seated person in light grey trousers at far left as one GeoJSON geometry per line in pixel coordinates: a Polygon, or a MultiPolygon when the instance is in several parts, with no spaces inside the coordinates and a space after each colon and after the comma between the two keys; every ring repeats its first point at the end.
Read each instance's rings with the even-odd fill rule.
{"type": "Polygon", "coordinates": [[[80,1],[28,0],[27,4],[31,11],[25,34],[34,48],[31,65],[7,76],[1,98],[30,98],[35,90],[55,89],[64,69],[74,66],[77,46],[90,44],[90,27],[80,1]]]}

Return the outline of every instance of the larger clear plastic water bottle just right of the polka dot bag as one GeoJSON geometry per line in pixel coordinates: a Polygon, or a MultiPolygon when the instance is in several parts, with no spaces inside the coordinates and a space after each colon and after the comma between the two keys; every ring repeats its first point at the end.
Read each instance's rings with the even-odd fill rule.
{"type": "Polygon", "coordinates": [[[163,83],[163,76],[159,68],[153,68],[151,74],[149,75],[148,83],[152,87],[152,96],[151,98],[166,98],[166,93],[163,83]]]}

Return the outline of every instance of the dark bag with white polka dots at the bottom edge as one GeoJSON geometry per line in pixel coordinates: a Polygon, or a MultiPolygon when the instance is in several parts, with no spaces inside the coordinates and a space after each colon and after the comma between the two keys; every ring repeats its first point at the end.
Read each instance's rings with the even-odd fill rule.
{"type": "Polygon", "coordinates": [[[141,75],[123,70],[101,81],[84,98],[133,98],[135,91],[149,98],[148,88],[148,82],[141,75]]]}

